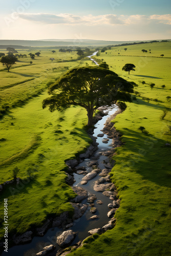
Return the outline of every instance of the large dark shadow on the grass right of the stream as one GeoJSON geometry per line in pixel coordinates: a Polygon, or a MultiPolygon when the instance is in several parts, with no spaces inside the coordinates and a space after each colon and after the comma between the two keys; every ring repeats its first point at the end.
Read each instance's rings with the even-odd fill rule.
{"type": "Polygon", "coordinates": [[[125,150],[128,150],[129,156],[125,154],[122,168],[140,174],[144,180],[170,188],[171,147],[165,146],[167,141],[160,139],[158,133],[144,135],[139,131],[127,128],[124,130],[123,134],[127,144],[125,150]]]}

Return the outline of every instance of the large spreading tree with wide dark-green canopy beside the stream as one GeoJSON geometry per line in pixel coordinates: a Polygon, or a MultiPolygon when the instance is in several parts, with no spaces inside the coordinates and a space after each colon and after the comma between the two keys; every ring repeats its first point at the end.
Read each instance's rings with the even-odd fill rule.
{"type": "Polygon", "coordinates": [[[131,101],[133,86],[113,71],[83,67],[74,68],[49,87],[51,97],[42,102],[42,108],[63,110],[79,105],[87,110],[88,126],[93,124],[93,114],[99,106],[112,105],[117,100],[131,101]]]}

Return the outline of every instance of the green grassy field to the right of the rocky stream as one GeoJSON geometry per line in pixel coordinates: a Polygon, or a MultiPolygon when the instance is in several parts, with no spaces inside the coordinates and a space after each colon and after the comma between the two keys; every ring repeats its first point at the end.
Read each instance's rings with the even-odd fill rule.
{"type": "MultiPolygon", "coordinates": [[[[168,45],[170,47],[170,43],[168,45]]],[[[146,46],[127,48],[135,54],[134,48],[146,49],[146,46]]],[[[165,44],[160,45],[161,49],[159,44],[152,46],[156,55],[163,51],[170,56],[170,48],[165,49],[165,44]]],[[[153,49],[152,46],[149,49],[153,49]]],[[[135,91],[140,95],[133,103],[128,103],[127,109],[114,120],[125,143],[116,150],[116,164],[111,172],[121,206],[115,214],[117,222],[114,229],[95,236],[93,241],[87,240],[81,249],[69,255],[169,256],[171,148],[166,147],[165,143],[171,143],[170,102],[166,100],[167,96],[171,96],[170,59],[151,58],[144,61],[145,65],[138,73],[135,71],[128,75],[121,68],[125,63],[134,63],[137,67],[141,58],[115,56],[115,49],[108,52],[111,54],[101,53],[99,57],[115,67],[113,71],[120,76],[136,82],[138,87],[135,91]],[[146,84],[142,84],[142,81],[146,84]],[[151,82],[156,84],[153,89],[148,84],[151,82]],[[165,89],[161,88],[162,84],[165,84],[165,89]],[[151,100],[147,102],[143,100],[144,97],[151,100]],[[156,98],[158,101],[153,100],[156,98]],[[162,119],[165,109],[168,112],[162,119]],[[149,133],[142,133],[140,126],[144,126],[149,133]]]]}

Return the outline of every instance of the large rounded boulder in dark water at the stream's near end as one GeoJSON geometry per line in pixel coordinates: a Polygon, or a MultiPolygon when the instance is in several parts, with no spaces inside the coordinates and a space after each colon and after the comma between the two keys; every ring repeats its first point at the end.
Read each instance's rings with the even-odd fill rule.
{"type": "Polygon", "coordinates": [[[57,237],[56,243],[60,247],[67,247],[72,243],[75,237],[76,232],[74,232],[73,230],[67,230],[57,237]]]}

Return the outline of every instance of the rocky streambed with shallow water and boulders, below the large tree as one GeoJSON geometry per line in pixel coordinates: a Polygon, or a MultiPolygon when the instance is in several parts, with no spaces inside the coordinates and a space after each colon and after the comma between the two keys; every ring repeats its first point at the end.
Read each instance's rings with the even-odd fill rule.
{"type": "Polygon", "coordinates": [[[63,254],[63,248],[72,245],[79,247],[88,236],[101,234],[115,226],[114,214],[119,207],[119,199],[116,187],[110,180],[114,165],[111,157],[121,141],[110,120],[120,110],[116,105],[99,110],[103,118],[97,115],[94,131],[89,130],[92,144],[78,159],[66,162],[67,183],[77,194],[70,202],[74,208],[73,216],[63,212],[60,217],[47,220],[44,226],[36,228],[34,234],[38,237],[33,239],[32,231],[13,237],[16,246],[8,250],[8,256],[64,256],[66,252],[63,254]],[[19,245],[24,242],[30,243],[19,245]]]}

